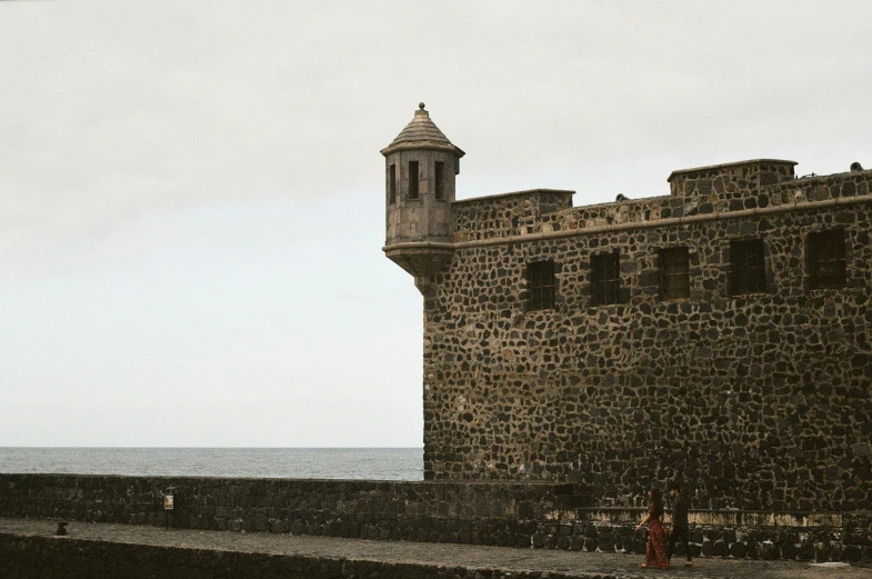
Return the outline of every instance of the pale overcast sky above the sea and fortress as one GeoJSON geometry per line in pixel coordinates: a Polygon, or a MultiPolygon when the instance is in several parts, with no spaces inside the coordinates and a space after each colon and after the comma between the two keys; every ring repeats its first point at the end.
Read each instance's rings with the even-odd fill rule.
{"type": "Polygon", "coordinates": [[[419,101],[458,197],[872,167],[869,2],[0,2],[0,446],[421,445],[384,258],[419,101]]]}

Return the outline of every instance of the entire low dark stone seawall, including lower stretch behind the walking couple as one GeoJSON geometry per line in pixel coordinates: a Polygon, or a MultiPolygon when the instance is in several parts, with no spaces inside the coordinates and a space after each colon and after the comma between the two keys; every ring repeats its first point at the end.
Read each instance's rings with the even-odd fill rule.
{"type": "MultiPolygon", "coordinates": [[[[602,552],[644,552],[642,508],[571,485],[0,475],[0,517],[602,552]],[[163,495],[173,495],[164,511],[163,495]]],[[[872,559],[872,511],[691,511],[696,557],[872,559]]],[[[683,552],[680,551],[680,555],[683,552]]]]}

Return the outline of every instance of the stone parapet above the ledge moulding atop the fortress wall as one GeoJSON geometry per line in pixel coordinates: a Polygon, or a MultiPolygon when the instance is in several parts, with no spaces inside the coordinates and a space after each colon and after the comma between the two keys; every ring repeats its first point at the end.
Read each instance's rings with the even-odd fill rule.
{"type": "Polygon", "coordinates": [[[672,182],[673,194],[582,207],[571,207],[571,192],[550,190],[455,201],[454,242],[460,247],[477,241],[523,242],[538,234],[567,237],[609,228],[665,227],[705,216],[729,218],[730,213],[763,217],[792,210],[799,203],[838,204],[842,200],[850,204],[872,193],[872,171],[793,179],[791,169],[790,176],[726,179],[682,172],[672,182]],[[758,186],[761,180],[763,184],[758,186]]]}

